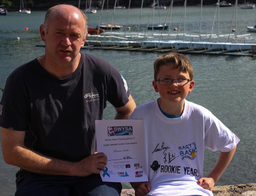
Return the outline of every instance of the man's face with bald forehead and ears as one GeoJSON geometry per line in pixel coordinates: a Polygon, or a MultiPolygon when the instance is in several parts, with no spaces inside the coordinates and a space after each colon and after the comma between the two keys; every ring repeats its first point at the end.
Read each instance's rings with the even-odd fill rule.
{"type": "Polygon", "coordinates": [[[41,36],[45,42],[46,58],[68,63],[77,59],[80,48],[84,46],[84,20],[73,7],[64,11],[51,16],[47,32],[41,32],[41,36]]]}

